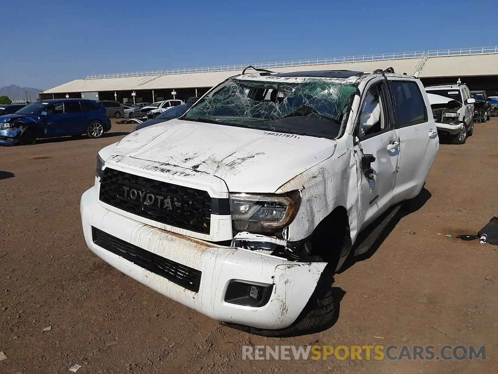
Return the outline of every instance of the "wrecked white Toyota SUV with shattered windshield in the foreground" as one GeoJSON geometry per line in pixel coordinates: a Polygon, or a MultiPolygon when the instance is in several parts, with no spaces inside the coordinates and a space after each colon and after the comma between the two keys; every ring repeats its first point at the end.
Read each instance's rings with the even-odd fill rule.
{"type": "Polygon", "coordinates": [[[334,318],[328,270],[365,252],[419,194],[438,149],[414,77],[245,70],[181,118],[99,152],[81,198],[85,240],[218,321],[311,331],[334,318]]]}

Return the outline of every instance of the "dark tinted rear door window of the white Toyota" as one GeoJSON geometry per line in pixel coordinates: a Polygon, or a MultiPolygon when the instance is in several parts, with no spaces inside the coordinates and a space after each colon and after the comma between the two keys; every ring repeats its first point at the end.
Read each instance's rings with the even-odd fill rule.
{"type": "Polygon", "coordinates": [[[427,122],[427,109],[416,82],[390,82],[396,101],[396,127],[416,125],[427,122]]]}

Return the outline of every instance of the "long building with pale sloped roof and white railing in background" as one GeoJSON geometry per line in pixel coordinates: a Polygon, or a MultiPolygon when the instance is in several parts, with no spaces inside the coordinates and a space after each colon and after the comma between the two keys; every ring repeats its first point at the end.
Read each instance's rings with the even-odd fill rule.
{"type": "MultiPolygon", "coordinates": [[[[249,64],[248,64],[249,65],[249,64]]],[[[200,96],[224,79],[240,74],[245,64],[204,68],[174,69],[136,73],[102,74],[77,79],[40,93],[49,98],[99,98],[131,102],[150,102],[175,97],[200,96]],[[91,95],[85,94],[91,93],[91,95]]],[[[412,75],[417,66],[424,66],[419,77],[424,84],[455,82],[458,78],[471,90],[487,90],[498,95],[498,46],[484,48],[445,49],[424,52],[403,52],[376,55],[308,59],[254,64],[275,72],[302,70],[373,71],[392,66],[396,72],[412,75]]]]}

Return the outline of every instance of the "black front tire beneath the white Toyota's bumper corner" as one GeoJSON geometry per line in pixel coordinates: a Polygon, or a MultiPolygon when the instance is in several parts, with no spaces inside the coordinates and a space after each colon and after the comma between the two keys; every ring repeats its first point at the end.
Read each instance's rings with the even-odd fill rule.
{"type": "Polygon", "coordinates": [[[330,328],[337,319],[336,295],[333,292],[332,279],[327,269],[318,280],[315,291],[311,295],[303,311],[296,321],[285,329],[267,330],[224,322],[223,325],[244,331],[249,334],[272,338],[313,334],[330,328]]]}

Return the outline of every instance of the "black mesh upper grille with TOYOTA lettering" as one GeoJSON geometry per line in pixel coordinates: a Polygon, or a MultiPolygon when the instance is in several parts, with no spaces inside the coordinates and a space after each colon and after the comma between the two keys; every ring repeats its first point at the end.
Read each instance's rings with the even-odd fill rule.
{"type": "Polygon", "coordinates": [[[210,231],[212,199],[207,191],[106,168],[99,198],[157,222],[205,234],[210,231]]]}

